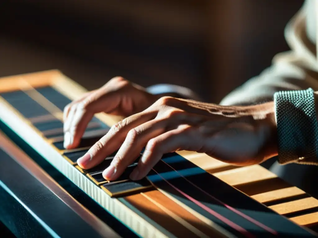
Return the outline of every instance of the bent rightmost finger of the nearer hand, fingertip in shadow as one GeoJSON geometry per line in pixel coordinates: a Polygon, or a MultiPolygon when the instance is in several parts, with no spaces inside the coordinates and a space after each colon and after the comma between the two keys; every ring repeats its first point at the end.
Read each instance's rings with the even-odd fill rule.
{"type": "Polygon", "coordinates": [[[177,129],[157,136],[147,143],[137,167],[130,175],[130,179],[140,180],[145,177],[162,158],[163,154],[176,150],[197,151],[200,146],[201,139],[196,136],[195,129],[189,125],[182,125],[177,129]]]}

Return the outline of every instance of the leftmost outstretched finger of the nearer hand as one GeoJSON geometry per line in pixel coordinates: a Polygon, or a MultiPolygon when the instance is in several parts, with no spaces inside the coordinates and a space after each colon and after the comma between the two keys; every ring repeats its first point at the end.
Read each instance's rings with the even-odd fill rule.
{"type": "Polygon", "coordinates": [[[153,113],[141,112],[116,123],[83,157],[77,160],[77,164],[83,169],[90,169],[98,165],[108,155],[120,148],[129,130],[151,120],[152,117],[154,117],[153,113]]]}

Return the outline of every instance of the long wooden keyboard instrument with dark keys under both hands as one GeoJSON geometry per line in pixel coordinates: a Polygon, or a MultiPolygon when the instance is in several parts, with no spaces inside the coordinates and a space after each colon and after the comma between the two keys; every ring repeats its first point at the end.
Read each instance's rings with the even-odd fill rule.
{"type": "MultiPolygon", "coordinates": [[[[318,200],[259,165],[235,167],[205,154],[179,151],[164,155],[140,181],[128,177],[138,158],[114,182],[101,176],[114,155],[95,168],[79,168],[76,160],[120,120],[104,113],[96,114],[79,147],[64,149],[63,109],[85,92],[58,70],[4,77],[0,79],[0,120],[96,201],[100,209],[104,208],[135,234],[141,237],[317,236],[313,228],[318,224],[318,200]]],[[[0,148],[6,154],[6,159],[0,160],[2,187],[8,188],[3,174],[10,157],[28,171],[38,171],[38,179],[39,174],[46,178],[42,179],[44,186],[57,189],[72,200],[3,135],[0,135],[0,148]]],[[[10,183],[9,179],[6,181],[10,183]]],[[[77,207],[76,213],[96,232],[106,237],[118,235],[93,211],[87,211],[74,199],[72,204],[69,207],[77,207]]]]}

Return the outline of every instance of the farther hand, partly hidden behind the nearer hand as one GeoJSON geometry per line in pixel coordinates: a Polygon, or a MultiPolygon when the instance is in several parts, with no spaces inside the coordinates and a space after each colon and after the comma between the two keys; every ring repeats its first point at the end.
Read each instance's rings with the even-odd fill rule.
{"type": "Polygon", "coordinates": [[[95,113],[131,116],[152,105],[159,96],[122,77],[114,77],[99,89],[87,92],[64,108],[64,148],[76,148],[95,113]]]}

